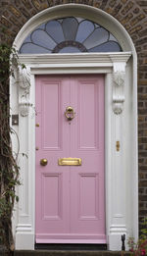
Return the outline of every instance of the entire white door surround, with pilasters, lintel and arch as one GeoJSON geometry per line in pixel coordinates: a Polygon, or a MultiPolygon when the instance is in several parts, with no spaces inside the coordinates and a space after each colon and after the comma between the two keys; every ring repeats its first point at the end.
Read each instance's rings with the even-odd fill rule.
{"type": "MultiPolygon", "coordinates": [[[[19,75],[19,84],[22,84],[24,77],[25,86],[17,86],[18,82],[13,77],[10,86],[11,114],[20,114],[19,126],[13,128],[20,138],[19,165],[23,180],[23,185],[18,188],[20,202],[15,207],[13,221],[16,249],[34,249],[35,75],[105,74],[105,192],[109,249],[121,250],[123,233],[127,237],[137,238],[138,235],[137,66],[135,49],[129,35],[123,26],[105,12],[93,7],[68,4],[49,8],[36,15],[36,20],[31,18],[19,32],[14,45],[19,48],[24,40],[23,33],[26,35],[27,29],[29,33],[34,26],[45,22],[48,14],[52,14],[53,19],[55,14],[56,18],[67,16],[67,12],[72,15],[73,10],[78,15],[81,9],[83,17],[99,22],[110,31],[114,29],[115,24],[115,36],[125,52],[20,55],[20,61],[25,64],[26,71],[19,75]],[[106,18],[107,22],[112,21],[111,27],[106,26],[106,18]],[[123,38],[126,39],[125,43],[123,38]],[[28,80],[30,83],[27,84],[28,80]],[[29,93],[25,99],[22,96],[26,87],[29,93]],[[117,149],[117,142],[120,144],[120,151],[117,149]],[[28,159],[23,158],[21,153],[26,153],[28,159]],[[115,198],[116,193],[118,196],[115,198]]],[[[17,151],[18,144],[14,135],[12,140],[14,150],[17,151]]]]}

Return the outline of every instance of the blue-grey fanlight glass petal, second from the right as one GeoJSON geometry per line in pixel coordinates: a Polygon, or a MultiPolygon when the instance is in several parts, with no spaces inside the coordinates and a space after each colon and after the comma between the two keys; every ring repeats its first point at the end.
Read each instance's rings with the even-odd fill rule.
{"type": "Polygon", "coordinates": [[[83,42],[83,45],[87,49],[90,49],[106,42],[108,37],[109,33],[105,28],[96,28],[94,32],[83,42]]]}

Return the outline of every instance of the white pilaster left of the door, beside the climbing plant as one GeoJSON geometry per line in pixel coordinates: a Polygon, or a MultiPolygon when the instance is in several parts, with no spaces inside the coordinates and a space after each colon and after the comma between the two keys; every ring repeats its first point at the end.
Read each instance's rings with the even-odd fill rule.
{"type": "Polygon", "coordinates": [[[16,80],[19,99],[19,130],[20,152],[19,166],[21,185],[18,187],[19,203],[17,205],[18,222],[16,225],[16,249],[34,249],[34,118],[35,113],[32,108],[34,102],[32,93],[34,92],[33,80],[30,80],[30,69],[19,71],[16,80]],[[31,83],[31,89],[30,89],[31,83]],[[31,108],[30,108],[31,106],[31,108]]]}

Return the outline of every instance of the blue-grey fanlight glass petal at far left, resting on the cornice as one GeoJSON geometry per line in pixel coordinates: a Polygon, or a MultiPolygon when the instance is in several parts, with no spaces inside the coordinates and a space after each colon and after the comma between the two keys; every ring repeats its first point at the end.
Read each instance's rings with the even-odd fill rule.
{"type": "Polygon", "coordinates": [[[50,53],[51,51],[44,49],[34,43],[25,43],[20,49],[20,53],[50,53]]]}

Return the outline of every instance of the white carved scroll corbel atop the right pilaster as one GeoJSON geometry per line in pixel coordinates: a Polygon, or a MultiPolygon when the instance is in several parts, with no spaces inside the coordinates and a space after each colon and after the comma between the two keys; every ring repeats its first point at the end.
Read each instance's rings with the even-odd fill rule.
{"type": "Polygon", "coordinates": [[[116,115],[123,112],[125,63],[114,63],[113,74],[113,111],[116,115]]]}

